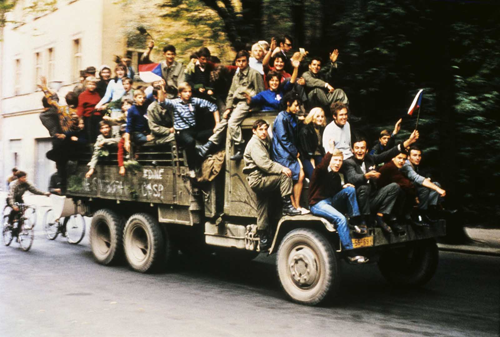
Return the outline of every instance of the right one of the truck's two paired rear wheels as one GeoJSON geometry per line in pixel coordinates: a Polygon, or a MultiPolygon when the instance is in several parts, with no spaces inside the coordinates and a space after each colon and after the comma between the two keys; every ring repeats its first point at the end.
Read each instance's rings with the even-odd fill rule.
{"type": "Polygon", "coordinates": [[[158,222],[147,213],[133,214],[125,224],[123,248],[133,270],[140,273],[152,271],[165,253],[158,222]]]}

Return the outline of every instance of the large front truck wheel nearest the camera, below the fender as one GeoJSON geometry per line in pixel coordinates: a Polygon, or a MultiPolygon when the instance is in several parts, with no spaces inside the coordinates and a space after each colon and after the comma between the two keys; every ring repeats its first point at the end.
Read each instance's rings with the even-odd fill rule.
{"type": "Polygon", "coordinates": [[[335,252],[324,235],[312,229],[295,229],[283,238],[276,270],[281,288],[293,301],[316,305],[338,287],[335,252]]]}

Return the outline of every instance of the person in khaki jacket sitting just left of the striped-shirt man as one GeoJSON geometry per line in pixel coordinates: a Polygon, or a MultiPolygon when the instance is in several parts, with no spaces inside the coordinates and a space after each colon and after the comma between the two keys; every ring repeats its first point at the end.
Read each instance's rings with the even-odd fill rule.
{"type": "Polygon", "coordinates": [[[162,103],[165,100],[163,86],[153,89],[154,101],[147,107],[147,123],[155,144],[167,144],[175,137],[173,129],[173,116],[170,109],[165,109],[162,103]]]}

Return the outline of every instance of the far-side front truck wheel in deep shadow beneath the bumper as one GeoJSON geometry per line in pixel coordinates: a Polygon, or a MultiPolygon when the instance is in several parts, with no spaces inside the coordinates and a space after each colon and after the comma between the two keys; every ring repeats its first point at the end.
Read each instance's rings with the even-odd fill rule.
{"type": "Polygon", "coordinates": [[[434,276],[438,260],[437,245],[431,239],[382,253],[378,268],[382,276],[395,286],[419,287],[434,276]]]}

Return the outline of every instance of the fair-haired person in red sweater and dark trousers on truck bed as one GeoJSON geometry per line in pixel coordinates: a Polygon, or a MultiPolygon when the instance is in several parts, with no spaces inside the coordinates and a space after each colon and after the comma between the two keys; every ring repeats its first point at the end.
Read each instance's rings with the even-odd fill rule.
{"type": "Polygon", "coordinates": [[[95,77],[89,76],[85,79],[85,91],[78,96],[78,106],[76,107],[78,117],[83,117],[90,143],[95,142],[95,138],[99,134],[99,122],[102,120],[100,111],[95,110],[95,105],[100,101],[100,96],[95,91],[96,83],[97,78],[95,77]]]}

